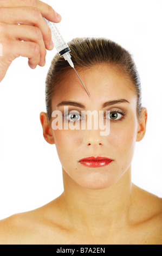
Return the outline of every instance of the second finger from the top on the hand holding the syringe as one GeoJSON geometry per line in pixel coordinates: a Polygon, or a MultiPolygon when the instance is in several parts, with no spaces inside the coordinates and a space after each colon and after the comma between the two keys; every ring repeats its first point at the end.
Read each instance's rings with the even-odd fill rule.
{"type": "Polygon", "coordinates": [[[0,8],[1,22],[9,24],[23,24],[36,26],[40,29],[43,41],[48,50],[51,50],[51,31],[43,19],[40,10],[35,7],[0,8]]]}

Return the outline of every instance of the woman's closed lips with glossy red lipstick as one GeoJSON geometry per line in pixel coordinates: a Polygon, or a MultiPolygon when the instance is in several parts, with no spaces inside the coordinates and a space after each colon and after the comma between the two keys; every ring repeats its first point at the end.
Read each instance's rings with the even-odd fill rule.
{"type": "Polygon", "coordinates": [[[87,167],[107,166],[107,164],[111,163],[112,161],[113,161],[112,159],[108,159],[107,157],[103,157],[103,156],[97,156],[97,157],[89,156],[79,160],[79,162],[83,164],[83,166],[87,166],[87,167]]]}

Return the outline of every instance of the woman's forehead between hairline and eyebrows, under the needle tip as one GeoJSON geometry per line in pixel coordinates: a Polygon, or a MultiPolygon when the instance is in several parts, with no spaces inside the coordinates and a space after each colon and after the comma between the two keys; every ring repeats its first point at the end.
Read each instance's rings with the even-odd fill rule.
{"type": "Polygon", "coordinates": [[[134,92],[130,78],[113,66],[95,65],[92,68],[76,69],[90,97],[83,88],[75,71],[70,70],[63,76],[60,88],[55,92],[52,108],[61,101],[71,100],[82,102],[87,108],[99,107],[108,100],[126,99],[135,102],[137,95],[134,92]]]}

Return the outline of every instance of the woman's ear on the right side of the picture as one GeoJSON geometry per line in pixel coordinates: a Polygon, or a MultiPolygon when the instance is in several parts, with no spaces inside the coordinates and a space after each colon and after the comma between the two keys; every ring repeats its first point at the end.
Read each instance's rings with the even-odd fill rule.
{"type": "Polygon", "coordinates": [[[140,120],[138,124],[136,141],[141,141],[141,139],[144,138],[144,135],[146,132],[146,122],[147,122],[147,109],[145,107],[142,107],[140,120]]]}

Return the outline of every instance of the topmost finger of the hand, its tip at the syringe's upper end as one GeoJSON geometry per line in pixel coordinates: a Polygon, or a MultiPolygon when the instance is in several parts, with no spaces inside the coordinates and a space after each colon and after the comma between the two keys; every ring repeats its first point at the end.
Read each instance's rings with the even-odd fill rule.
{"type": "Polygon", "coordinates": [[[1,0],[0,7],[36,7],[41,11],[43,17],[53,22],[60,22],[61,15],[48,4],[38,0],[1,0]]]}

